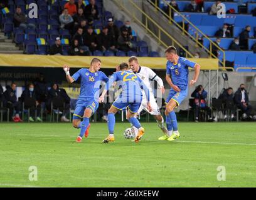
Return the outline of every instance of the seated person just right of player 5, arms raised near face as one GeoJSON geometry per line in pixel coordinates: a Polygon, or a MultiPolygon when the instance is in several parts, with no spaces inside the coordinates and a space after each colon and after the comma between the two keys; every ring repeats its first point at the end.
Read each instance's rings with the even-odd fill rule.
{"type": "Polygon", "coordinates": [[[195,108],[195,122],[198,122],[200,110],[205,110],[208,115],[208,121],[215,121],[211,117],[211,108],[206,105],[207,92],[203,89],[203,86],[199,85],[196,87],[195,91],[191,94],[191,97],[194,99],[194,108],[195,108]]]}

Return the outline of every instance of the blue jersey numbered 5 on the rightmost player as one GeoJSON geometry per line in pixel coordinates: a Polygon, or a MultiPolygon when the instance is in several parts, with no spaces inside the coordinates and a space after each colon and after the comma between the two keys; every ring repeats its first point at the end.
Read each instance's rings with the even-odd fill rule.
{"type": "Polygon", "coordinates": [[[184,90],[188,88],[188,68],[195,68],[196,63],[179,57],[178,63],[174,64],[171,61],[166,63],[166,74],[171,76],[174,85],[179,89],[184,90]]]}

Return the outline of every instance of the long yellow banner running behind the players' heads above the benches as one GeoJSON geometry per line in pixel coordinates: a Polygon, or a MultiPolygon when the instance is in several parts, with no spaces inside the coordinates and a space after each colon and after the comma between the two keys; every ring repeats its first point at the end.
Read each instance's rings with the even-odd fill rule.
{"type": "MultiPolygon", "coordinates": [[[[41,56],[26,54],[0,54],[0,66],[3,67],[43,67],[62,68],[67,64],[71,68],[88,68],[93,56],[41,56]]],[[[122,62],[128,62],[128,57],[97,57],[102,61],[102,68],[115,68],[122,62]]],[[[165,58],[141,57],[139,64],[152,69],[166,69],[165,58]]],[[[189,59],[200,64],[202,70],[217,70],[218,59],[189,59]]]]}

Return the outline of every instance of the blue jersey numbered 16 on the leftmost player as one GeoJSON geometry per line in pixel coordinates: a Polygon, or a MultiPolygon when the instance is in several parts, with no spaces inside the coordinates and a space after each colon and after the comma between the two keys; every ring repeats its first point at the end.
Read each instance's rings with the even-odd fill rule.
{"type": "Polygon", "coordinates": [[[97,99],[98,101],[101,81],[105,81],[105,83],[109,81],[109,78],[102,71],[92,73],[89,69],[80,69],[72,76],[75,81],[79,78],[81,79],[81,86],[78,100],[97,99]]]}

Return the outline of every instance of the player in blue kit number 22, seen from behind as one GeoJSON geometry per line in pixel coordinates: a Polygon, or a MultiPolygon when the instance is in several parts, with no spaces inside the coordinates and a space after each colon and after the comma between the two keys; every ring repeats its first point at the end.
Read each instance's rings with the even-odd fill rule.
{"type": "Polygon", "coordinates": [[[115,86],[122,86],[122,93],[120,93],[119,97],[115,99],[114,103],[110,107],[108,111],[108,128],[109,128],[109,136],[102,141],[103,143],[114,142],[114,127],[115,127],[115,113],[117,111],[122,110],[124,108],[128,108],[126,118],[128,121],[135,126],[139,131],[135,138],[135,142],[138,143],[144,134],[145,130],[142,128],[138,119],[136,118],[136,113],[141,106],[142,101],[142,93],[141,89],[145,91],[147,98],[147,109],[152,111],[150,104],[150,96],[149,89],[146,84],[136,76],[136,74],[128,71],[129,66],[127,63],[121,63],[119,66],[120,71],[114,73],[110,78],[109,82],[106,84],[102,95],[99,98],[99,103],[104,101],[104,96],[109,90],[109,88],[116,82],[115,86]]]}

